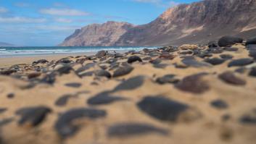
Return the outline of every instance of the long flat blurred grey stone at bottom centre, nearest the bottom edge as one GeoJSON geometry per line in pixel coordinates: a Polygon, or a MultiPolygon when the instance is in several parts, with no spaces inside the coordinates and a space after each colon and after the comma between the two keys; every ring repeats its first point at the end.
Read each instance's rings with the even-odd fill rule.
{"type": "Polygon", "coordinates": [[[157,133],[160,135],[168,135],[168,130],[154,127],[151,124],[142,123],[122,123],[114,124],[107,130],[109,137],[128,137],[146,135],[149,133],[157,133]]]}

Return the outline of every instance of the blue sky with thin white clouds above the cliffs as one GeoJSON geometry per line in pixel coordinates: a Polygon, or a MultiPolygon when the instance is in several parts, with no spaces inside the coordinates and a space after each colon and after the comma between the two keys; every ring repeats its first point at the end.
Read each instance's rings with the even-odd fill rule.
{"type": "Polygon", "coordinates": [[[199,0],[0,0],[0,41],[57,46],[75,29],[107,21],[141,25],[199,0]]]}

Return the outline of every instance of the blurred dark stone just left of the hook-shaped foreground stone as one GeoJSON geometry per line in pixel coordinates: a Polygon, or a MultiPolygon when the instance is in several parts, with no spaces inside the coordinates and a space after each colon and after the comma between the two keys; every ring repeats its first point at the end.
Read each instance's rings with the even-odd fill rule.
{"type": "Polygon", "coordinates": [[[21,118],[18,122],[19,125],[30,124],[33,127],[38,126],[44,121],[46,115],[51,112],[51,109],[46,106],[27,107],[16,111],[17,115],[21,118]]]}

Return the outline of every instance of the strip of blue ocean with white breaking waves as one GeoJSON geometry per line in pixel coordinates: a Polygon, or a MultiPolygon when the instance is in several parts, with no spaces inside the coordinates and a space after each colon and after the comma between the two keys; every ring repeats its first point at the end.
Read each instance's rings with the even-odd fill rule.
{"type": "Polygon", "coordinates": [[[0,57],[9,56],[37,56],[37,55],[54,55],[54,54],[81,54],[81,53],[96,53],[97,51],[139,51],[144,48],[157,47],[115,47],[115,46],[83,46],[83,47],[0,47],[0,57]]]}

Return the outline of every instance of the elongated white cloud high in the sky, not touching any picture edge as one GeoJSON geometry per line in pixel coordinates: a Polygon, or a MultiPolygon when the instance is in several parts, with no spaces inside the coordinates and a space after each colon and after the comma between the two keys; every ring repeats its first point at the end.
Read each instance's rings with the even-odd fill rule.
{"type": "Polygon", "coordinates": [[[84,16],[88,15],[88,12],[82,12],[77,9],[41,9],[41,14],[60,15],[60,16],[84,16]]]}

